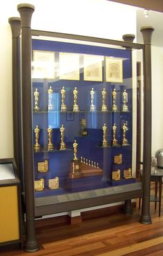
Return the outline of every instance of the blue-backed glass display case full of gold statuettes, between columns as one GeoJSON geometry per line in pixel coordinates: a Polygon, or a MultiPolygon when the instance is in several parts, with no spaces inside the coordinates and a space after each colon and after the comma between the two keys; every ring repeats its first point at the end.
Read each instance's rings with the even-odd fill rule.
{"type": "Polygon", "coordinates": [[[140,196],[135,168],[141,45],[39,33],[32,36],[36,216],[140,196]]]}

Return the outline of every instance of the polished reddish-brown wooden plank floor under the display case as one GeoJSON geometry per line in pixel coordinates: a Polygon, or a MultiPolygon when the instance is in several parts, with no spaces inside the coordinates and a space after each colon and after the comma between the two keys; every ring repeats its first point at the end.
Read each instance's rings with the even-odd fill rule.
{"type": "MultiPolygon", "coordinates": [[[[157,206],[158,208],[158,206],[157,206]]],[[[158,217],[151,203],[152,224],[139,222],[141,211],[133,209],[133,215],[121,212],[95,215],[83,214],[82,223],[70,226],[61,223],[63,217],[37,221],[37,240],[40,249],[35,253],[26,253],[19,248],[1,248],[0,256],[142,256],[163,255],[163,210],[158,217]]],[[[1,232],[1,230],[0,230],[1,232]]]]}

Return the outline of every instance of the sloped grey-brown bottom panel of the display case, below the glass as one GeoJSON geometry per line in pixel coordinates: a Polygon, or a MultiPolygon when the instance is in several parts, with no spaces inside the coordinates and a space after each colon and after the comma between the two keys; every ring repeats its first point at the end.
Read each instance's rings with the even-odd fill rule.
{"type": "Polygon", "coordinates": [[[35,198],[35,217],[116,203],[141,196],[142,183],[140,182],[83,192],[41,196],[35,198]]]}

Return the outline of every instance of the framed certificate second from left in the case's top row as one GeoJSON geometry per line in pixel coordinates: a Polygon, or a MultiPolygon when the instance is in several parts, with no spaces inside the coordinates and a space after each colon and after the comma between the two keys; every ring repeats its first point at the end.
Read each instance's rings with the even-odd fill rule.
{"type": "Polygon", "coordinates": [[[59,53],[59,79],[79,80],[79,54],[59,53]]]}

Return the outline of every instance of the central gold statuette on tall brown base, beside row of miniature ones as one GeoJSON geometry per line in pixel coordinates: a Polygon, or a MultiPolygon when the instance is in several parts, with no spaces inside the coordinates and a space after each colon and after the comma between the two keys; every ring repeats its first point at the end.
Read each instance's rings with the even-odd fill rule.
{"type": "Polygon", "coordinates": [[[82,176],[81,173],[81,161],[77,158],[77,140],[73,143],[73,149],[74,149],[74,158],[70,162],[70,173],[69,177],[73,179],[80,178],[82,176]]]}

